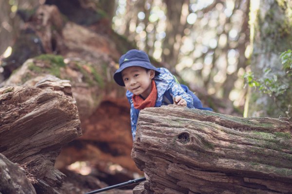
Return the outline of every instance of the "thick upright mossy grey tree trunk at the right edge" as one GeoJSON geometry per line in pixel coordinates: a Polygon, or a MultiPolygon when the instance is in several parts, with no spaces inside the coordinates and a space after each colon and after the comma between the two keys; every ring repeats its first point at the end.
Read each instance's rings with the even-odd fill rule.
{"type": "MultiPolygon", "coordinates": [[[[266,94],[250,89],[245,116],[287,116],[289,111],[291,114],[292,89],[289,85],[280,84],[287,77],[280,54],[291,49],[292,45],[292,1],[254,1],[251,4],[250,23],[253,46],[251,70],[257,79],[263,80],[259,89],[265,87],[266,93],[270,92],[266,94]],[[281,88],[287,90],[283,93],[283,98],[278,98],[281,88]]],[[[288,78],[286,84],[291,85],[292,77],[288,78]]]]}

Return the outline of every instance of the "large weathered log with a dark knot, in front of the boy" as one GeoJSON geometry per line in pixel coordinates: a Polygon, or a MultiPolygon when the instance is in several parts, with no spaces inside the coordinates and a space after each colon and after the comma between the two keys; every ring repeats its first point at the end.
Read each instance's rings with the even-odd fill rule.
{"type": "Polygon", "coordinates": [[[146,108],[132,158],[149,180],[134,193],[291,194],[291,132],[287,120],[146,108]]]}

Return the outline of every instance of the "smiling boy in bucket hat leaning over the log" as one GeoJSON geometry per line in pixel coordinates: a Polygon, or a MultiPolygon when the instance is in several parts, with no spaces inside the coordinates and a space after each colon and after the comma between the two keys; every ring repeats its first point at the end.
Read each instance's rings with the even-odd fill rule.
{"type": "Polygon", "coordinates": [[[203,108],[199,98],[186,86],[176,82],[165,68],[155,68],[144,51],[130,50],[119,60],[120,68],[114,73],[115,82],[127,88],[131,105],[131,130],[133,141],[140,110],[146,107],[177,104],[188,108],[203,108]]]}

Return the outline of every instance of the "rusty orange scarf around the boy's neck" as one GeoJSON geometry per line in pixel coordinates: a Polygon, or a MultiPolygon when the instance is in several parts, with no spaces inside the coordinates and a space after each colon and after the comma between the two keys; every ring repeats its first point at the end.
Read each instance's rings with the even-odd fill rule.
{"type": "Polygon", "coordinates": [[[140,95],[133,94],[132,100],[134,108],[142,110],[147,107],[154,107],[157,99],[157,89],[154,80],[151,82],[151,92],[149,96],[144,100],[140,95]]]}

